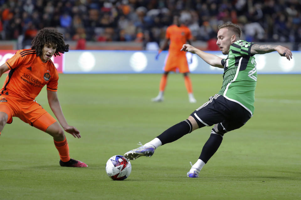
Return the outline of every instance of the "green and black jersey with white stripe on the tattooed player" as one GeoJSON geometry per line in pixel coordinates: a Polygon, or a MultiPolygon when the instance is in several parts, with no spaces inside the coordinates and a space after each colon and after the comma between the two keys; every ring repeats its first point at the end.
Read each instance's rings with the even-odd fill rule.
{"type": "Polygon", "coordinates": [[[244,40],[231,44],[228,57],[221,61],[224,75],[219,91],[220,95],[246,108],[252,116],[257,82],[256,62],[251,54],[253,44],[244,40]]]}

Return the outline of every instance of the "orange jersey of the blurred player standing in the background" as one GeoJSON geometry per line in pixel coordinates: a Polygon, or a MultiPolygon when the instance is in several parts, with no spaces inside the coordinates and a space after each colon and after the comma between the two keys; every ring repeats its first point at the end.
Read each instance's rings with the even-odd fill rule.
{"type": "Polygon", "coordinates": [[[169,53],[182,53],[181,48],[183,44],[186,44],[187,40],[189,40],[191,36],[191,32],[188,27],[177,25],[171,25],[166,29],[166,39],[170,39],[169,45],[169,53]]]}

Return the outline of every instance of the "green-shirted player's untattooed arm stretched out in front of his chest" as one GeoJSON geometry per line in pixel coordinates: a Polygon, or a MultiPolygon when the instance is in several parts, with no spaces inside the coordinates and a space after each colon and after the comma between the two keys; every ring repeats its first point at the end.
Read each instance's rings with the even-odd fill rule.
{"type": "Polygon", "coordinates": [[[221,63],[223,58],[220,58],[211,53],[203,52],[203,51],[191,46],[190,44],[183,44],[181,51],[188,51],[190,53],[195,53],[209,65],[212,65],[212,66],[218,67],[218,68],[224,68],[224,66],[221,63]]]}

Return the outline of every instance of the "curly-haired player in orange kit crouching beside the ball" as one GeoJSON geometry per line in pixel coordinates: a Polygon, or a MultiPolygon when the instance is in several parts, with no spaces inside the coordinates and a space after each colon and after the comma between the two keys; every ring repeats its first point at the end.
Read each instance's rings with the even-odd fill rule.
{"type": "Polygon", "coordinates": [[[10,70],[0,91],[0,133],[12,117],[38,128],[54,139],[63,167],[87,167],[81,161],[70,159],[64,131],[75,138],[81,134],[67,123],[57,97],[58,72],[50,60],[60,53],[68,52],[63,35],[54,28],[43,28],[31,42],[31,49],[22,49],[0,66],[0,77],[10,70]],[[47,85],[48,103],[63,127],[34,99],[47,85]]]}

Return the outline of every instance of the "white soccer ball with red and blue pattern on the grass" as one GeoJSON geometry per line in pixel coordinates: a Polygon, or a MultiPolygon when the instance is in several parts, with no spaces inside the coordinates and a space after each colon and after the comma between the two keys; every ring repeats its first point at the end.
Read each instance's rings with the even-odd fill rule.
{"type": "Polygon", "coordinates": [[[108,159],[106,172],[114,181],[122,181],[129,177],[132,171],[132,165],[129,160],[123,156],[116,155],[108,159]]]}

